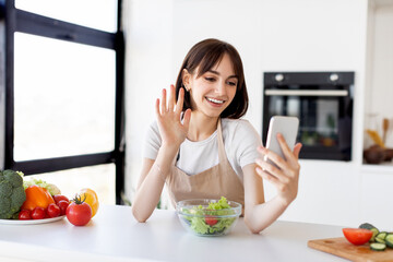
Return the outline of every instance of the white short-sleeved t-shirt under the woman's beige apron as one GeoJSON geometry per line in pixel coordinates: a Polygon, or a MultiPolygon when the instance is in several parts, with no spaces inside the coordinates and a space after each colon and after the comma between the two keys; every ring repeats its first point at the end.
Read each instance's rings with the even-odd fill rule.
{"type": "MultiPolygon", "coordinates": [[[[222,119],[223,140],[227,158],[242,181],[242,167],[259,157],[257,147],[262,140],[251,123],[243,119],[222,119]]],[[[158,124],[154,121],[147,131],[143,156],[155,159],[162,144],[158,124]]],[[[217,131],[210,138],[192,142],[188,139],[180,145],[176,166],[187,175],[202,172],[218,164],[217,131]]]]}

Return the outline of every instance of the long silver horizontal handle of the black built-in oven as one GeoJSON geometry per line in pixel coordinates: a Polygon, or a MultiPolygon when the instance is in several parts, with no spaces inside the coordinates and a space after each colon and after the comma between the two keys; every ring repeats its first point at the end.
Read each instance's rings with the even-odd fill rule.
{"type": "Polygon", "coordinates": [[[266,90],[266,96],[348,96],[348,91],[266,90]]]}

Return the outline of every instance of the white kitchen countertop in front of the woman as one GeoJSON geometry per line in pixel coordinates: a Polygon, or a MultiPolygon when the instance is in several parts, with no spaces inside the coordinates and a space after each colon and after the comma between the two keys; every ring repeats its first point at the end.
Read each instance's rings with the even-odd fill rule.
{"type": "Polygon", "coordinates": [[[341,237],[337,226],[277,221],[259,235],[240,218],[224,237],[186,231],[175,211],[138,223],[130,206],[103,205],[84,227],[67,218],[40,225],[0,225],[0,261],[347,261],[307,247],[341,237]]]}

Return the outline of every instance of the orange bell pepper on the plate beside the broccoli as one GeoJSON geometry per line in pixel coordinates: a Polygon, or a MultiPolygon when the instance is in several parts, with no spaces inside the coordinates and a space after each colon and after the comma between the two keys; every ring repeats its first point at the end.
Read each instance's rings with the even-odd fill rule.
{"type": "Polygon", "coordinates": [[[33,211],[37,206],[46,209],[50,203],[55,203],[48,190],[38,186],[29,186],[26,188],[25,193],[26,201],[21,206],[21,210],[33,211]]]}

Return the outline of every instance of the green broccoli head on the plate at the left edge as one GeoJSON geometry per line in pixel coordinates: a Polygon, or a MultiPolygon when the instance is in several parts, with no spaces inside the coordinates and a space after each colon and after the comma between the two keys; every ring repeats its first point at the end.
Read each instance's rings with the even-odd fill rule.
{"type": "Polygon", "coordinates": [[[22,176],[13,170],[0,171],[0,219],[14,217],[25,200],[22,176]]]}

